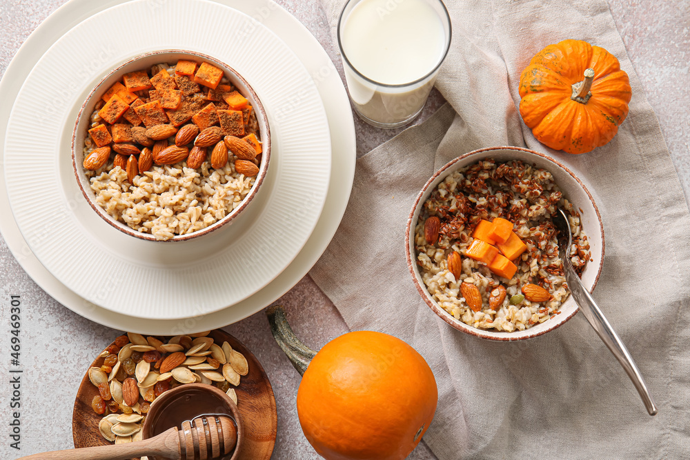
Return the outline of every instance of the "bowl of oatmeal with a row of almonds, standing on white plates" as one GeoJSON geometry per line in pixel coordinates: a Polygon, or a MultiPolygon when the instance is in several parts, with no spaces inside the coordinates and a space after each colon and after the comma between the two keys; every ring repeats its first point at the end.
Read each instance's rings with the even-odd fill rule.
{"type": "Polygon", "coordinates": [[[149,241],[184,241],[233,221],[269,159],[268,117],[253,88],[219,59],[185,50],[141,54],[109,72],[72,135],[91,208],[149,241]]]}

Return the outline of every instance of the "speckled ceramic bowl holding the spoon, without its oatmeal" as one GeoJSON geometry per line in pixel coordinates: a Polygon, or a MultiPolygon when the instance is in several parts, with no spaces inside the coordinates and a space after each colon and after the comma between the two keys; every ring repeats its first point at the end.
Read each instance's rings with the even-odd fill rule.
{"type": "Polygon", "coordinates": [[[431,177],[431,179],[426,182],[426,185],[424,188],[422,188],[422,191],[417,196],[412,211],[410,212],[410,217],[407,221],[407,228],[405,232],[407,264],[410,274],[412,275],[413,282],[417,287],[417,291],[420,292],[424,302],[426,302],[429,308],[431,308],[431,310],[433,310],[433,312],[435,312],[441,319],[446,321],[446,323],[448,323],[450,326],[453,326],[453,328],[466,332],[467,334],[471,334],[475,337],[482,337],[483,339],[498,341],[530,339],[558,328],[563,323],[575,316],[575,313],[578,312],[579,308],[575,303],[575,300],[573,300],[573,297],[569,296],[566,301],[562,303],[560,306],[560,314],[556,314],[555,317],[547,319],[543,323],[536,324],[535,326],[532,326],[526,330],[514,332],[482,330],[469,326],[462,321],[458,321],[453,317],[453,315],[441,308],[431,297],[431,294],[428,293],[428,290],[426,290],[426,286],[424,285],[424,281],[422,281],[420,272],[417,270],[417,255],[415,254],[413,233],[415,231],[415,223],[420,215],[420,210],[422,210],[424,201],[428,199],[436,186],[438,186],[438,184],[441,183],[449,174],[452,174],[460,168],[469,166],[472,163],[476,163],[481,159],[488,158],[493,158],[496,161],[501,162],[522,160],[525,163],[533,164],[538,168],[544,168],[551,172],[555,182],[558,183],[560,190],[563,192],[564,197],[571,201],[573,206],[579,208],[581,211],[580,218],[582,228],[589,239],[592,259],[589,261],[589,263],[587,263],[586,268],[582,272],[582,282],[590,291],[594,289],[599,279],[599,275],[602,270],[602,263],[604,261],[604,226],[602,225],[599,210],[594,203],[594,199],[589,193],[589,190],[587,190],[587,188],[584,186],[584,183],[582,183],[582,181],[580,181],[580,179],[578,179],[578,177],[576,177],[571,170],[551,157],[546,156],[545,154],[528,150],[526,148],[483,148],[457,157],[438,170],[431,177]]]}

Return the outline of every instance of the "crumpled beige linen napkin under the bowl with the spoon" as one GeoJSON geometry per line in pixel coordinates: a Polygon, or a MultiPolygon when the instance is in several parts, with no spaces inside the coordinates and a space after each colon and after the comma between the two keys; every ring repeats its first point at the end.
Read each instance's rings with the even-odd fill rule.
{"type": "MultiPolygon", "coordinates": [[[[344,0],[322,0],[335,27],[344,0]]],[[[690,215],[655,114],[602,0],[451,1],[453,43],[437,80],[449,104],[357,161],[342,224],[311,271],[353,330],[419,350],[439,387],[424,440],[440,459],[689,458],[690,215]],[[517,112],[521,70],[549,43],[584,39],[620,59],[630,112],[607,146],[579,156],[534,139],[517,112]],[[582,314],[542,337],[495,343],[437,319],[408,273],[404,230],[417,192],[457,155],[527,146],[593,192],[606,256],[594,292],[659,407],[649,417],[582,314]]]]}

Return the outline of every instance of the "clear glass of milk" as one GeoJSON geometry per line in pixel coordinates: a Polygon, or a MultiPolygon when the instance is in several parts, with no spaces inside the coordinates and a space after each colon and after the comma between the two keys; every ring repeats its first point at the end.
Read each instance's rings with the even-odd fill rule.
{"type": "Polygon", "coordinates": [[[337,39],[359,117],[398,128],[424,107],[451,46],[451,19],[441,0],[349,0],[337,39]]]}

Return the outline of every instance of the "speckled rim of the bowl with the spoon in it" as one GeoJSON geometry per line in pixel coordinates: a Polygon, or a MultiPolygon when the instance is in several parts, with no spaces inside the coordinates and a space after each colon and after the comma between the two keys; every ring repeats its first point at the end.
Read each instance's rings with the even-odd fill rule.
{"type": "MultiPolygon", "coordinates": [[[[482,339],[493,340],[493,341],[518,341],[518,340],[533,339],[534,337],[538,337],[540,335],[546,334],[546,332],[550,332],[552,330],[558,329],[564,323],[569,321],[569,319],[574,317],[575,314],[577,314],[578,311],[580,310],[580,307],[578,306],[578,304],[575,303],[575,309],[573,310],[573,312],[571,314],[567,315],[566,317],[560,317],[560,315],[559,315],[559,317],[563,318],[563,319],[559,318],[559,321],[554,322],[553,326],[551,326],[550,328],[547,328],[545,330],[541,330],[538,332],[532,332],[531,334],[529,333],[530,329],[526,329],[524,331],[513,331],[513,332],[503,332],[503,331],[494,332],[494,331],[492,331],[494,334],[496,334],[496,333],[502,334],[500,336],[497,336],[494,334],[486,334],[486,332],[489,332],[489,331],[484,331],[482,329],[478,329],[478,328],[475,328],[473,326],[469,326],[468,324],[465,324],[462,321],[458,321],[449,312],[446,312],[446,310],[441,308],[435,301],[433,301],[433,299],[431,299],[431,295],[428,293],[428,290],[426,290],[426,286],[421,286],[420,282],[417,280],[417,276],[416,276],[417,264],[413,263],[413,257],[411,254],[411,250],[412,250],[411,232],[415,226],[415,224],[413,223],[413,219],[415,216],[415,212],[417,212],[417,208],[419,208],[419,206],[420,206],[420,201],[421,201],[422,197],[424,196],[426,190],[428,190],[428,188],[431,186],[431,184],[438,177],[440,177],[441,175],[447,175],[447,174],[445,174],[446,171],[448,171],[449,168],[453,168],[453,166],[455,166],[455,164],[458,163],[459,161],[462,161],[462,160],[467,159],[469,157],[479,157],[479,158],[477,158],[477,161],[479,161],[480,159],[489,156],[489,155],[485,154],[486,152],[490,152],[493,150],[513,150],[515,152],[526,152],[529,154],[537,155],[538,157],[542,157],[546,161],[550,161],[551,163],[554,163],[555,166],[558,166],[559,168],[564,170],[564,172],[566,172],[571,177],[573,177],[573,179],[575,179],[575,181],[579,184],[579,186],[585,192],[586,196],[589,197],[589,201],[591,202],[591,205],[594,208],[594,211],[595,211],[595,214],[597,217],[597,221],[599,223],[599,228],[600,228],[600,232],[601,232],[601,239],[602,239],[602,243],[601,243],[602,257],[601,257],[601,260],[599,261],[599,266],[598,266],[597,272],[595,274],[595,278],[594,278],[594,281],[592,283],[592,287],[590,289],[590,292],[592,292],[594,290],[594,288],[597,286],[597,283],[599,281],[599,277],[602,273],[602,267],[604,264],[605,240],[604,240],[604,223],[602,222],[599,208],[597,207],[597,205],[594,201],[594,198],[592,197],[592,194],[586,188],[584,183],[582,183],[582,181],[569,168],[564,166],[564,164],[561,163],[560,161],[558,161],[557,159],[554,159],[553,157],[549,157],[549,155],[546,155],[546,154],[543,154],[540,152],[536,152],[535,150],[531,150],[529,148],[515,147],[515,146],[486,147],[486,148],[480,148],[477,150],[473,150],[471,152],[467,152],[465,154],[460,155],[459,157],[456,157],[455,159],[452,159],[448,163],[446,163],[439,170],[437,170],[433,174],[433,176],[431,176],[431,178],[428,179],[428,181],[426,181],[426,183],[424,184],[424,187],[422,187],[422,190],[420,190],[420,193],[417,194],[417,198],[415,199],[415,202],[413,203],[412,210],[411,210],[411,212],[408,216],[408,219],[407,219],[406,230],[405,230],[405,256],[407,259],[407,267],[408,267],[408,271],[410,272],[410,274],[412,276],[413,282],[415,283],[415,287],[417,288],[417,292],[420,293],[420,296],[422,297],[422,299],[424,300],[426,305],[429,308],[431,308],[431,310],[433,310],[433,312],[435,312],[435,314],[437,314],[438,317],[440,317],[443,321],[445,321],[447,324],[449,324],[449,326],[453,327],[454,329],[460,330],[462,332],[465,332],[466,334],[470,334],[470,335],[473,335],[475,337],[481,337],[482,339]],[[484,155],[482,156],[482,154],[484,154],[484,155]],[[520,335],[517,336],[517,334],[515,334],[516,332],[520,333],[520,335]],[[511,335],[515,336],[515,337],[511,337],[511,335]]],[[[549,320],[546,320],[546,321],[549,321],[549,320]]],[[[544,322],[546,322],[546,321],[544,321],[544,322]]]]}

